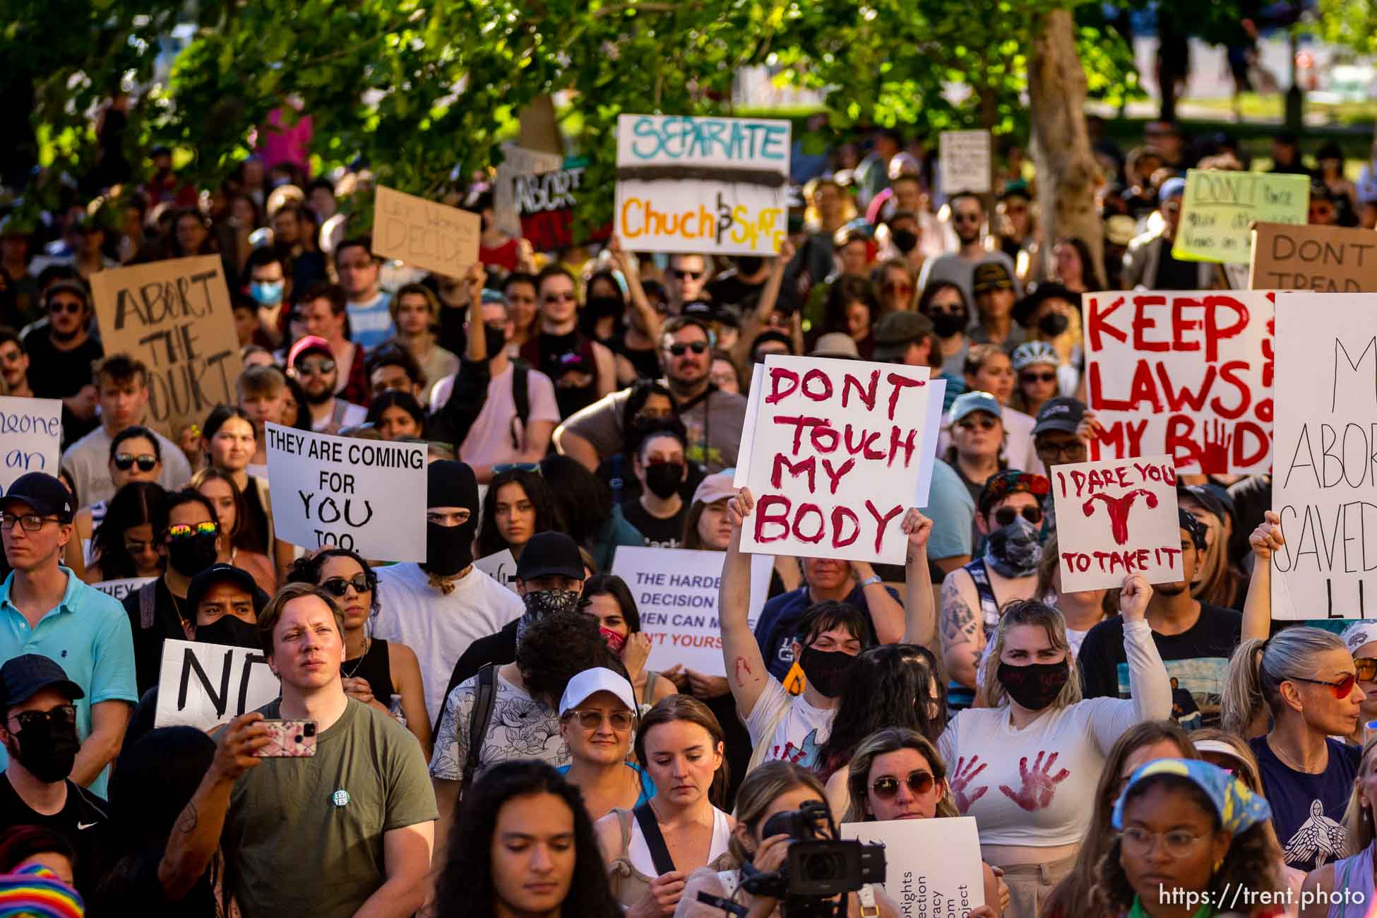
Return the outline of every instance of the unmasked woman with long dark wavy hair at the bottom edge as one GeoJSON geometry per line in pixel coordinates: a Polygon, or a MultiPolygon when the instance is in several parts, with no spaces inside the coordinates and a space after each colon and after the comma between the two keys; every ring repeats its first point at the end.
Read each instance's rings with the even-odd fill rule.
{"type": "Polygon", "coordinates": [[[454,822],[434,918],[621,918],[578,790],[544,762],[498,762],[454,822]]]}

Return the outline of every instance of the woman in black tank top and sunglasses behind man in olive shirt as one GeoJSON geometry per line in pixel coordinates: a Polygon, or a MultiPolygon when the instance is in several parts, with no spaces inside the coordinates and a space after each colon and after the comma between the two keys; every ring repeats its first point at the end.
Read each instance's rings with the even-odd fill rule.
{"type": "Polygon", "coordinates": [[[395,717],[430,761],[431,724],[416,651],[372,636],[373,617],[381,608],[373,567],[347,548],[322,548],[293,562],[286,582],[313,584],[335,597],[344,615],[344,694],[395,717]]]}

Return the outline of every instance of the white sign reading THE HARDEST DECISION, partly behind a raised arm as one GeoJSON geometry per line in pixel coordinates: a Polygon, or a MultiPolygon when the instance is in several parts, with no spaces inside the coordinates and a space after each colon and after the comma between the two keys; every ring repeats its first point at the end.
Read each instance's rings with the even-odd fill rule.
{"type": "MultiPolygon", "coordinates": [[[[717,586],[722,582],[724,552],[695,552],[683,548],[636,548],[622,545],[613,557],[611,573],[627,581],[640,612],[640,630],[650,637],[650,659],[655,672],[683,663],[705,676],[726,676],[722,662],[722,626],[717,623],[717,586]]],[[[750,628],[770,589],[774,557],[750,559],[750,628]]]]}

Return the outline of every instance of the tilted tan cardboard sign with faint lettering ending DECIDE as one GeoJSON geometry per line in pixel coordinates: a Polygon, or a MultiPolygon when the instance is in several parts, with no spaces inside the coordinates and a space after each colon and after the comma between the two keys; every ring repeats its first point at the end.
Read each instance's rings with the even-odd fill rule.
{"type": "Polygon", "coordinates": [[[476,213],[377,186],[375,255],[437,274],[464,277],[478,261],[481,227],[476,213]]]}

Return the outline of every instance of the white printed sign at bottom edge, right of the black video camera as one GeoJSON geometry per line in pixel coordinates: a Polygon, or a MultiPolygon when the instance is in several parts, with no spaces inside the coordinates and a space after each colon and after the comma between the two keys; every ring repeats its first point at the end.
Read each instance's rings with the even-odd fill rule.
{"type": "Polygon", "coordinates": [[[956,918],[985,904],[972,816],[841,823],[843,838],[884,845],[884,892],[905,918],[956,918]]]}

